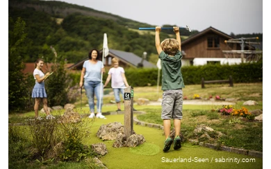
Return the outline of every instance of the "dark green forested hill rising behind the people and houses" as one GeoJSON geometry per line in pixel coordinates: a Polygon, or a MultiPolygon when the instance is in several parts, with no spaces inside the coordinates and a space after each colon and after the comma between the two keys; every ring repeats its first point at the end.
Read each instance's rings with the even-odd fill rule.
{"type": "MultiPolygon", "coordinates": [[[[15,28],[18,18],[26,23],[26,39],[24,45],[18,48],[25,62],[34,62],[38,57],[44,57],[47,62],[51,62],[54,60],[51,46],[55,48],[58,56],[67,59],[67,62],[79,62],[88,56],[90,49],[102,48],[104,33],[108,36],[109,48],[139,56],[146,51],[147,60],[150,62],[151,55],[156,55],[154,31],[138,30],[140,27],[155,27],[154,25],[92,8],[62,1],[10,0],[8,16],[9,31],[15,28]]],[[[183,29],[181,38],[185,39],[195,33],[198,31],[192,30],[192,33],[189,33],[183,29]]],[[[163,30],[161,38],[172,35],[172,30],[163,30]]]]}

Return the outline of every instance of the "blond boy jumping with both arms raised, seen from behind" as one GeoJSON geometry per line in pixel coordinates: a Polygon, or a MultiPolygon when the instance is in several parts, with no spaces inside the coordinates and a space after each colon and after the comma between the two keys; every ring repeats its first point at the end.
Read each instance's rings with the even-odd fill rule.
{"type": "Polygon", "coordinates": [[[164,39],[160,43],[161,26],[156,26],[155,45],[158,57],[161,59],[162,67],[162,113],[165,133],[165,143],[163,151],[170,150],[174,143],[174,150],[181,148],[181,119],[183,118],[183,76],[181,74],[181,37],[179,27],[174,26],[173,30],[176,39],[164,39]],[[171,118],[174,121],[175,137],[170,138],[171,118]]]}

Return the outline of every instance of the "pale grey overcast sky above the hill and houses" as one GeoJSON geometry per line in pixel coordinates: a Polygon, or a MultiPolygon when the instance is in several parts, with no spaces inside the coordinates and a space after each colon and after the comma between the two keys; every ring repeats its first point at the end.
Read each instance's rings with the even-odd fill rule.
{"type": "Polygon", "coordinates": [[[210,26],[223,33],[267,33],[267,0],[60,0],[142,23],[210,26]]]}

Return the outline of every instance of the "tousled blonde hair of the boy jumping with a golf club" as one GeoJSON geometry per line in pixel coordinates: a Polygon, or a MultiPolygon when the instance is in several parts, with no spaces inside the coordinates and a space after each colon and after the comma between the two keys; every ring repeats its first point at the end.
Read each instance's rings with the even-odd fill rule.
{"type": "Polygon", "coordinates": [[[168,55],[175,55],[179,51],[179,42],[176,39],[167,38],[161,42],[161,48],[168,55]]]}

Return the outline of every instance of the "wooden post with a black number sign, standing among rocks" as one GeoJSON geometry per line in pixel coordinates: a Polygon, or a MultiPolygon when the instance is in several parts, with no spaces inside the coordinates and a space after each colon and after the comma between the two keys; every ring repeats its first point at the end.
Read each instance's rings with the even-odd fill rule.
{"type": "Polygon", "coordinates": [[[124,134],[126,138],[133,132],[133,87],[124,89],[124,134]]]}

